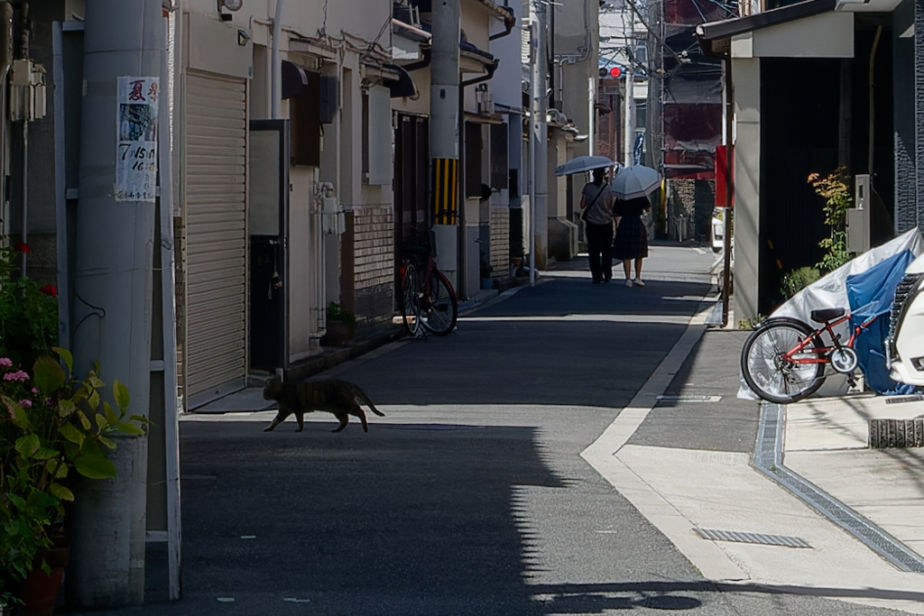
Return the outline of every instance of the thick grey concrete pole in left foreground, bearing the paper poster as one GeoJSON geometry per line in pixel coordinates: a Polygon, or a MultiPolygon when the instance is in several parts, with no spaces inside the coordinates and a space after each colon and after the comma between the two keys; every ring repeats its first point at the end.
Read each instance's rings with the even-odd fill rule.
{"type": "MultiPolygon", "coordinates": [[[[154,202],[116,201],[116,169],[121,160],[118,139],[126,139],[121,133],[130,130],[133,137],[128,139],[151,135],[150,130],[146,137],[135,133],[137,115],[123,115],[124,128],[116,130],[117,84],[120,77],[161,77],[162,5],[162,0],[87,0],[84,21],[75,370],[86,376],[98,360],[100,377],[107,384],[104,397],[112,398],[111,385],[120,380],[131,394],[130,412],[142,416],[148,414],[152,369],[154,202]]],[[[143,94],[150,97],[151,91],[143,94]]],[[[140,163],[156,165],[156,157],[140,163]]],[[[109,456],[116,478],[82,483],[70,516],[72,566],[67,586],[72,607],[116,607],[144,600],[148,441],[116,441],[118,447],[109,456]]]]}

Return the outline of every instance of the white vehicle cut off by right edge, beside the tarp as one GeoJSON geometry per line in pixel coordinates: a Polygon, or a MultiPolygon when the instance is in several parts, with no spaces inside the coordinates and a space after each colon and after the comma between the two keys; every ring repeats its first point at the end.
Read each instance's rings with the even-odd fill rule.
{"type": "Polygon", "coordinates": [[[924,255],[911,262],[895,289],[886,363],[894,380],[924,386],[924,255]]]}

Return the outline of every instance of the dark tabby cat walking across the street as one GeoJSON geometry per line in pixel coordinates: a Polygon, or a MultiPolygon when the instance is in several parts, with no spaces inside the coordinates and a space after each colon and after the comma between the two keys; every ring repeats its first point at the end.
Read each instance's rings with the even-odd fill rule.
{"type": "Polygon", "coordinates": [[[362,431],[368,432],[366,413],[357,403],[357,399],[369,405],[372,412],[378,416],[385,414],[372,404],[372,401],[359,387],[346,380],[314,380],[310,382],[284,383],[278,378],[266,381],[263,386],[263,399],[275,400],[279,403],[279,414],[264,432],[269,432],[286,420],[286,417],[295,415],[298,420],[297,432],[305,427],[305,414],[312,411],[328,411],[340,420],[340,426],[334,432],[346,428],[349,416],[359,417],[362,422],[362,431]]]}

